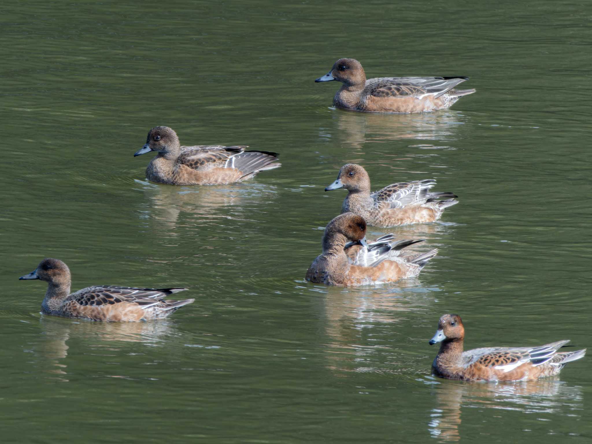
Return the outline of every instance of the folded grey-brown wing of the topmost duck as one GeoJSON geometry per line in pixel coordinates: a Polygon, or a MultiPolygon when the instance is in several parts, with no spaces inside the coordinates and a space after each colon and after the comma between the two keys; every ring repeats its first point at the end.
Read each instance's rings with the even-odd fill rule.
{"type": "Polygon", "coordinates": [[[468,77],[382,77],[370,79],[366,87],[375,97],[414,97],[422,98],[433,95],[434,98],[445,94],[456,85],[468,80],[468,77]]]}

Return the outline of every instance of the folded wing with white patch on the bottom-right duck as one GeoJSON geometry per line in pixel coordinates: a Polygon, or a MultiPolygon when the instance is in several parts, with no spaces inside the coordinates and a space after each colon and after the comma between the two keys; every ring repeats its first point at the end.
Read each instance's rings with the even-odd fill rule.
{"type": "Polygon", "coordinates": [[[531,348],[484,348],[469,350],[463,353],[467,359],[466,365],[477,365],[509,372],[525,363],[533,366],[551,361],[559,348],[567,344],[568,340],[553,342],[531,348]]]}

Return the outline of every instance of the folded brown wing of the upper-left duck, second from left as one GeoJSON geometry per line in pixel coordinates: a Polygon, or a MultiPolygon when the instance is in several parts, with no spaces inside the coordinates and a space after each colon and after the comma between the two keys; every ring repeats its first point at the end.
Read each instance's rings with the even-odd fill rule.
{"type": "Polygon", "coordinates": [[[246,151],[247,146],[188,146],[181,147],[181,162],[189,168],[205,171],[211,168],[236,168],[243,176],[278,168],[277,153],[246,151]]]}

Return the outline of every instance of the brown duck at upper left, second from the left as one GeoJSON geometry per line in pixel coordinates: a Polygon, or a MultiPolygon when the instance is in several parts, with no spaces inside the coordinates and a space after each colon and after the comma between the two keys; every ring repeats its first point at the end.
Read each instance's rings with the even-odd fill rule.
{"type": "Polygon", "coordinates": [[[148,131],[146,144],[134,153],[140,156],[155,151],[146,168],[146,177],[169,185],[215,185],[242,182],[259,171],[281,166],[278,154],[245,151],[246,146],[181,146],[169,127],[148,131]]]}

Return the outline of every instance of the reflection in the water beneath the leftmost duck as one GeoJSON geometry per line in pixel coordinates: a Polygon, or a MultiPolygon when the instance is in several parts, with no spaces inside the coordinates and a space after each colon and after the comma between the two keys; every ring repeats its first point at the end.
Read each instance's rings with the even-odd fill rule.
{"type": "MultiPolygon", "coordinates": [[[[86,353],[108,355],[127,354],[130,343],[155,346],[166,336],[175,334],[172,322],[91,322],[72,321],[41,315],[41,332],[33,348],[40,359],[43,371],[53,375],[51,379],[68,382],[68,343],[82,345],[86,353]]],[[[113,367],[110,366],[109,369],[113,367]]],[[[101,371],[104,375],[104,372],[101,371]]],[[[118,375],[113,375],[119,377],[118,375]]]]}

